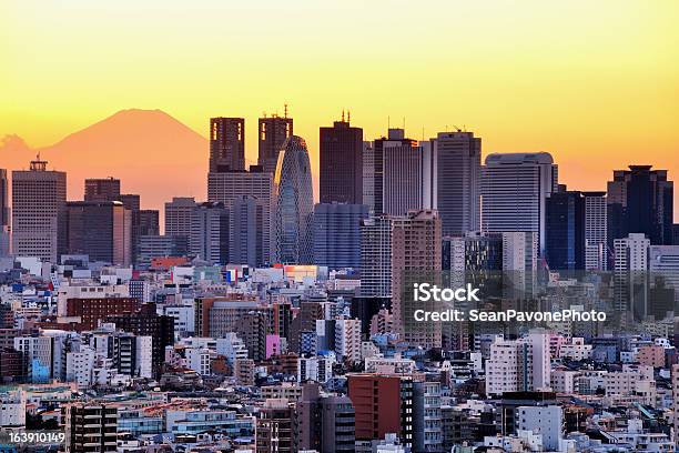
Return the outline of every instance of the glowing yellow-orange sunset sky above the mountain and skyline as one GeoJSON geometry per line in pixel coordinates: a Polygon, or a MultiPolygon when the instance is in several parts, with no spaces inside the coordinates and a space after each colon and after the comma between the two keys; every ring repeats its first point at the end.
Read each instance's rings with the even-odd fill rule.
{"type": "Polygon", "coordinates": [[[570,189],[629,163],[679,180],[677,23],[675,0],[1,0],[0,137],[49,145],[130,108],[202,134],[244,117],[254,161],[256,119],[287,103],[315,165],[347,109],[366,139],[391,121],[548,151],[570,189]]]}

